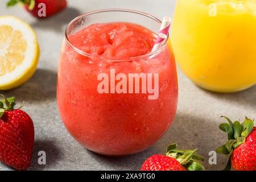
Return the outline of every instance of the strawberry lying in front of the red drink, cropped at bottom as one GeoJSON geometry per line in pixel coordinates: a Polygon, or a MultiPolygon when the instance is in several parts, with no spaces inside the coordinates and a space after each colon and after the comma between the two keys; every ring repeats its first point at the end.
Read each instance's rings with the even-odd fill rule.
{"type": "Polygon", "coordinates": [[[142,165],[142,171],[204,171],[197,160],[204,158],[196,155],[196,150],[176,150],[177,144],[167,147],[166,156],[153,155],[142,165]]]}

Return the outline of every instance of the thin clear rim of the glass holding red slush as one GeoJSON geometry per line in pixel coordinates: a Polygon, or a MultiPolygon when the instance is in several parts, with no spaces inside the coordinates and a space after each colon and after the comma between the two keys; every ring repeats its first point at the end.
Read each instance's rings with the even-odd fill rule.
{"type": "MultiPolygon", "coordinates": [[[[88,15],[92,15],[92,14],[97,14],[97,13],[104,13],[104,12],[126,12],[126,13],[134,13],[134,14],[139,14],[139,15],[143,15],[143,16],[147,16],[148,18],[151,18],[153,20],[155,20],[155,22],[159,23],[159,25],[162,24],[162,21],[159,20],[158,18],[156,18],[155,16],[152,16],[150,14],[147,13],[143,13],[142,11],[137,11],[137,10],[129,10],[129,9],[102,9],[102,10],[96,10],[96,11],[90,11],[88,13],[82,14],[80,16],[77,16],[75,19],[71,20],[71,22],[68,23],[66,29],[65,29],[65,40],[68,42],[68,44],[75,49],[76,52],[80,53],[81,55],[84,55],[86,57],[90,57],[90,58],[99,58],[99,59],[108,59],[108,60],[112,60],[112,61],[131,61],[131,60],[136,60],[136,59],[142,59],[143,57],[151,57],[156,55],[158,52],[162,51],[163,48],[166,46],[168,39],[169,39],[169,32],[167,35],[167,39],[164,41],[164,44],[162,44],[158,49],[156,49],[154,52],[149,52],[146,53],[144,55],[140,55],[140,56],[134,56],[134,57],[128,57],[126,59],[115,59],[114,57],[110,58],[107,56],[101,56],[101,55],[93,55],[92,53],[87,53],[85,51],[82,51],[81,49],[77,48],[76,46],[74,46],[69,38],[68,38],[68,30],[70,28],[70,26],[78,19],[83,18],[84,16],[88,16],[88,15]]],[[[160,28],[160,26],[159,26],[160,28]]]]}

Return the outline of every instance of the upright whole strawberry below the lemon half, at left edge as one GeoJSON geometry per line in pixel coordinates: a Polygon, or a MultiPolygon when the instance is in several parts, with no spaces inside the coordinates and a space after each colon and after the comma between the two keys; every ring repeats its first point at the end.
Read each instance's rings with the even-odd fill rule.
{"type": "Polygon", "coordinates": [[[14,109],[15,98],[0,101],[0,161],[18,170],[31,164],[34,125],[27,113],[14,109]]]}

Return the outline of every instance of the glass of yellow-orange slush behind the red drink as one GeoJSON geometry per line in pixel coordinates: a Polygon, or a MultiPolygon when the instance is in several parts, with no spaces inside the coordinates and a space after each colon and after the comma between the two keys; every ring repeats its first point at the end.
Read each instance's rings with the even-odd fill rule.
{"type": "Polygon", "coordinates": [[[201,88],[256,84],[256,0],[177,0],[171,39],[179,67],[201,88]]]}

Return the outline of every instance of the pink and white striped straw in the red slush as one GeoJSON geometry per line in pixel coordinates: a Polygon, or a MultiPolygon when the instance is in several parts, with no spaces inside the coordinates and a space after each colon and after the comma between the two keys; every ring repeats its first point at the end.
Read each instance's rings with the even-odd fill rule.
{"type": "Polygon", "coordinates": [[[156,38],[154,47],[151,52],[155,52],[159,47],[163,46],[165,40],[167,39],[168,32],[170,30],[172,23],[172,19],[169,16],[164,16],[159,33],[158,38],[156,38]]]}

